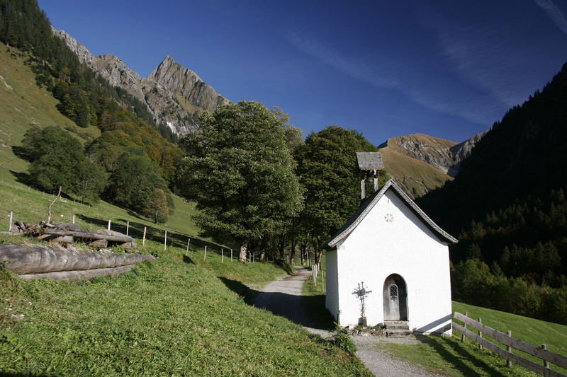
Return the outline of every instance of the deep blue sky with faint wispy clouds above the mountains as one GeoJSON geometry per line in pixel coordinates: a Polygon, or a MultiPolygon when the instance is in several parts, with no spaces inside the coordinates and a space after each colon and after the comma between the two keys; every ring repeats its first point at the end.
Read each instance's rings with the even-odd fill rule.
{"type": "Polygon", "coordinates": [[[489,129],[567,62],[567,1],[39,0],[140,76],[171,55],[228,99],[378,145],[489,129]]]}

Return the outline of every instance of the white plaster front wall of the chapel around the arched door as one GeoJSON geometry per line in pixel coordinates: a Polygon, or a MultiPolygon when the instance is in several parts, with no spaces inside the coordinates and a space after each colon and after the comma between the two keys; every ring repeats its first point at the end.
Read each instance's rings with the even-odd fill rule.
{"type": "Polygon", "coordinates": [[[434,332],[449,327],[449,248],[393,190],[337,245],[337,265],[341,325],[358,323],[360,303],[352,292],[361,282],[372,291],[366,298],[368,324],[383,322],[383,284],[390,274],[399,274],[408,291],[410,329],[434,332]]]}

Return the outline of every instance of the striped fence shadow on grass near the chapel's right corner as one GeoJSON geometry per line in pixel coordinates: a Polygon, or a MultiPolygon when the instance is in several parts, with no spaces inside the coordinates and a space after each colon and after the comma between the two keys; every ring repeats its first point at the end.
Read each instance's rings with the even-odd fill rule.
{"type": "MultiPolygon", "coordinates": [[[[468,366],[464,360],[471,362],[478,369],[482,369],[488,376],[506,376],[505,374],[485,363],[479,359],[475,354],[470,352],[469,349],[461,344],[460,340],[454,337],[440,337],[434,335],[417,335],[417,340],[428,344],[432,349],[441,356],[444,361],[454,366],[454,369],[460,371],[464,376],[477,376],[478,371],[468,366]]],[[[503,362],[504,359],[503,359],[503,362]]]]}

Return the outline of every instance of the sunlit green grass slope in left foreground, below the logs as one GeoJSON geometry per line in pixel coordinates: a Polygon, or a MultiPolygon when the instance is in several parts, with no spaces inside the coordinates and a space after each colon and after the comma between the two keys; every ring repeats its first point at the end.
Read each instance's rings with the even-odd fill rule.
{"type": "MultiPolygon", "coordinates": [[[[0,371],[57,376],[368,374],[358,359],[329,342],[248,306],[215,273],[197,264],[197,252],[183,262],[174,259],[184,250],[170,253],[172,257],[143,262],[119,277],[89,281],[19,282],[0,272],[0,371]]],[[[212,257],[210,263],[216,262],[212,257]]]]}

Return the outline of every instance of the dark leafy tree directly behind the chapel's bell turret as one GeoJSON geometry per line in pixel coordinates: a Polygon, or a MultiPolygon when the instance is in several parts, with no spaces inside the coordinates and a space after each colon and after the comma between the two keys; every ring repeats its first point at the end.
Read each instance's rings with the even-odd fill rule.
{"type": "Polygon", "coordinates": [[[298,151],[298,173],[305,187],[301,228],[319,260],[319,245],[330,238],[360,205],[356,152],[377,151],[361,134],[330,126],[312,133],[298,151]]]}

